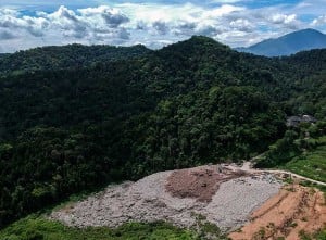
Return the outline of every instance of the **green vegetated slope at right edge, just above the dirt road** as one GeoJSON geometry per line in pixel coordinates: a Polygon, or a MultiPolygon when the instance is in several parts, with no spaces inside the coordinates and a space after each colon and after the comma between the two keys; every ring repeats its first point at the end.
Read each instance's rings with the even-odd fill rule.
{"type": "Polygon", "coordinates": [[[287,130],[269,147],[258,166],[279,167],[326,182],[325,122],[287,130]]]}

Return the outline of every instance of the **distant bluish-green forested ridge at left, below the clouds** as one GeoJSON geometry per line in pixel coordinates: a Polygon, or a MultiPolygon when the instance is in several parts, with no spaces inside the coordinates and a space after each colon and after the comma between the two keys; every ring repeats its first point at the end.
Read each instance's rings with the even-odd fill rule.
{"type": "Polygon", "coordinates": [[[62,47],[35,48],[12,54],[1,54],[0,73],[85,67],[98,62],[139,58],[150,51],[141,45],[114,47],[74,43],[62,47]]]}

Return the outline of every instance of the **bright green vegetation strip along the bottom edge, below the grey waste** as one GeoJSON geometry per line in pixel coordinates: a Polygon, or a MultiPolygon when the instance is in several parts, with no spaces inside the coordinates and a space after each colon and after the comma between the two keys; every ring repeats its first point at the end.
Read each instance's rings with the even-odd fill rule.
{"type": "Polygon", "coordinates": [[[43,217],[29,216],[0,231],[1,240],[196,240],[190,230],[166,223],[125,224],[116,229],[106,227],[77,229],[43,217]]]}

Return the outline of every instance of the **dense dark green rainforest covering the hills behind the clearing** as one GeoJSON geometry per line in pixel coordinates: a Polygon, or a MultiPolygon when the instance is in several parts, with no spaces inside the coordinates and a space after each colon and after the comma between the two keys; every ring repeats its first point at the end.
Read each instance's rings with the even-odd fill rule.
{"type": "Polygon", "coordinates": [[[288,115],[325,132],[326,50],[268,59],[196,36],[21,51],[0,73],[0,228],[109,182],[250,159],[288,115]]]}

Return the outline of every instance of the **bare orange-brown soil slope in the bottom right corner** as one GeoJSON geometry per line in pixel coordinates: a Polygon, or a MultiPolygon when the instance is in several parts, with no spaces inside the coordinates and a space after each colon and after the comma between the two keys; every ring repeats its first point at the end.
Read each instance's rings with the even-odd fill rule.
{"type": "Polygon", "coordinates": [[[324,193],[299,185],[287,186],[252,214],[251,223],[229,237],[234,240],[300,239],[326,227],[324,193]]]}

